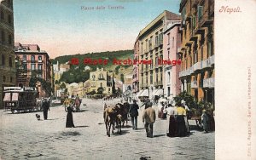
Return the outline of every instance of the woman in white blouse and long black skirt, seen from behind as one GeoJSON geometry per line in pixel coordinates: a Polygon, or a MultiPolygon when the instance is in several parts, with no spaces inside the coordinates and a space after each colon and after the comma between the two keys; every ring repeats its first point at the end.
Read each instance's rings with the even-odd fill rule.
{"type": "Polygon", "coordinates": [[[177,135],[177,108],[174,108],[172,104],[168,104],[168,107],[166,108],[167,112],[167,129],[166,129],[166,135],[168,137],[175,137],[177,135]]]}

